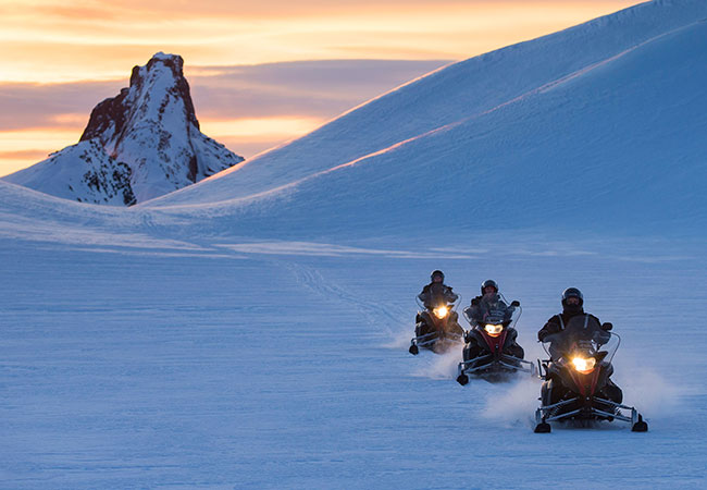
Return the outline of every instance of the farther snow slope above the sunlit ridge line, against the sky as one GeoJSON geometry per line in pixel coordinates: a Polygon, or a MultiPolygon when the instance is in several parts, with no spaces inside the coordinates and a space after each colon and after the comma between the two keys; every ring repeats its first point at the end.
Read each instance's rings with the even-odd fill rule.
{"type": "Polygon", "coordinates": [[[289,184],[449,124],[483,117],[539,87],[705,17],[707,3],[700,0],[655,1],[456,63],[152,205],[211,203],[289,184]]]}

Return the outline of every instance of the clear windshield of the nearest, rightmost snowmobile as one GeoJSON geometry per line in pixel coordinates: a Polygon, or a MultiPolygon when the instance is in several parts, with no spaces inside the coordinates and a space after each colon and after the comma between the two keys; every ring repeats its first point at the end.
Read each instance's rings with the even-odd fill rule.
{"type": "Polygon", "coordinates": [[[581,356],[610,363],[619,343],[619,335],[603,330],[590,315],[578,315],[568,322],[565,330],[547,335],[543,348],[553,360],[581,356]]]}

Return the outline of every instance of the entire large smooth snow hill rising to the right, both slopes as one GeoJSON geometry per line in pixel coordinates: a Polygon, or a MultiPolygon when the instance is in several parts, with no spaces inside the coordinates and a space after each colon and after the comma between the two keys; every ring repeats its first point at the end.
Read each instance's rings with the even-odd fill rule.
{"type": "Polygon", "coordinates": [[[146,206],[198,204],[273,235],[479,217],[704,230],[705,19],[707,2],[656,1],[441,69],[146,206]]]}

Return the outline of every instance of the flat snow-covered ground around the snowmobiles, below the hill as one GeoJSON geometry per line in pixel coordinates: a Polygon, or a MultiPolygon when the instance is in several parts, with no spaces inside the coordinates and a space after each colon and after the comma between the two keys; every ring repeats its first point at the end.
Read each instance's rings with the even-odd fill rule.
{"type": "Polygon", "coordinates": [[[0,242],[2,487],[704,485],[699,250],[286,245],[0,242]],[[561,290],[582,287],[622,335],[615,378],[650,431],[535,434],[538,381],[460,387],[459,353],[410,356],[413,295],[434,267],[467,301],[488,277],[519,298],[530,358],[561,290]]]}

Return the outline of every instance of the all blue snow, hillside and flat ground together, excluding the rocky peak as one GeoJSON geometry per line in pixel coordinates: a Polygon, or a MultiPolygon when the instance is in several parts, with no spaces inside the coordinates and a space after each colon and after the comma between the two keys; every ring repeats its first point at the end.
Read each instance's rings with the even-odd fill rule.
{"type": "Polygon", "coordinates": [[[704,17],[655,2],[469,60],[128,209],[0,182],[2,486],[703,487],[704,17]],[[511,59],[504,88],[485,64],[511,59]],[[499,89],[470,110],[464,65],[499,89]],[[488,278],[519,299],[531,360],[580,287],[649,431],[535,434],[538,380],[408,354],[437,268],[464,305],[488,278]]]}

